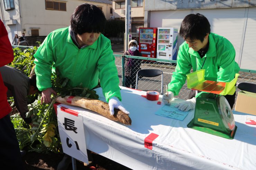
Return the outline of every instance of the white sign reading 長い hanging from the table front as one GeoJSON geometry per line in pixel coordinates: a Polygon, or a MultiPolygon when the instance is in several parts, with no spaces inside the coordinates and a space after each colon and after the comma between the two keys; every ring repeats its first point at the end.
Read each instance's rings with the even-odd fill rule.
{"type": "Polygon", "coordinates": [[[57,118],[63,152],[88,164],[83,117],[60,105],[57,107],[57,118]]]}

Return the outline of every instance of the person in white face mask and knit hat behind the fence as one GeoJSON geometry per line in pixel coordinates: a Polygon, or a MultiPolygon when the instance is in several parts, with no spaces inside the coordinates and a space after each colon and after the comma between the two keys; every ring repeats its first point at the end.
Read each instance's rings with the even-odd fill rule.
{"type": "MultiPolygon", "coordinates": [[[[138,43],[136,40],[129,42],[129,50],[124,53],[126,56],[140,56],[142,54],[137,50],[138,43]]],[[[125,56],[124,56],[125,57],[125,56]]],[[[136,74],[140,70],[141,60],[125,57],[125,87],[135,89],[136,74]]]]}

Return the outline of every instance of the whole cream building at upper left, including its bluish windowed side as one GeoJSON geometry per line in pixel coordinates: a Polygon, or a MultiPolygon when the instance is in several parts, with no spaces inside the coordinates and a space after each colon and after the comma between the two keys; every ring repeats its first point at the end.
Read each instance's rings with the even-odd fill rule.
{"type": "Polygon", "coordinates": [[[68,27],[74,9],[82,3],[99,7],[107,19],[112,16],[110,0],[0,0],[0,18],[12,42],[15,34],[26,37],[47,36],[53,30],[68,27]]]}

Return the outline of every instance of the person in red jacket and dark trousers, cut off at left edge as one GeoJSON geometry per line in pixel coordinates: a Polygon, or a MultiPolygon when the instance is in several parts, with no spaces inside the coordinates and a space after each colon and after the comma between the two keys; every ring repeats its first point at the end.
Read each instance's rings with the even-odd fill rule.
{"type": "MultiPolygon", "coordinates": [[[[0,67],[12,62],[13,50],[8,33],[0,20],[0,67]]],[[[4,86],[0,73],[0,166],[1,169],[23,170],[19,143],[10,119],[11,107],[7,101],[7,87],[4,86]]]]}

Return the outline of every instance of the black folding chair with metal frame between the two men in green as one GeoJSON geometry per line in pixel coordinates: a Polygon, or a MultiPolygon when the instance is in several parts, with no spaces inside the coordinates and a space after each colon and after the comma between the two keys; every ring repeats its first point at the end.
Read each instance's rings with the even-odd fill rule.
{"type": "MultiPolygon", "coordinates": [[[[163,94],[163,71],[160,69],[141,69],[137,72],[137,76],[136,76],[136,88],[138,89],[138,77],[142,76],[142,77],[157,77],[162,75],[162,79],[161,79],[161,92],[160,94],[163,94]]],[[[143,90],[143,91],[149,91],[149,90],[143,90]]],[[[155,91],[159,91],[159,90],[155,90],[155,91]]]]}

